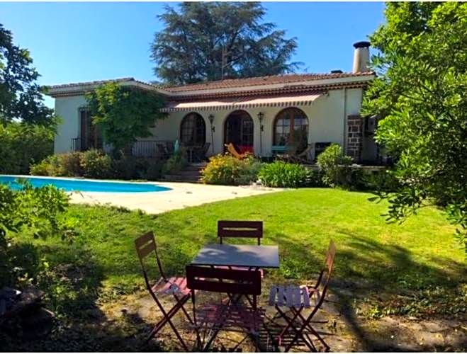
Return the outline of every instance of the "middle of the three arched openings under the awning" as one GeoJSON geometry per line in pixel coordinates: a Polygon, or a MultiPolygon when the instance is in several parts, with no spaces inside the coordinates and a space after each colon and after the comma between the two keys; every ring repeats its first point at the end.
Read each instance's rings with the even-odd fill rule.
{"type": "Polygon", "coordinates": [[[244,110],[235,110],[225,120],[225,144],[234,144],[240,154],[253,152],[253,120],[244,110]]]}

